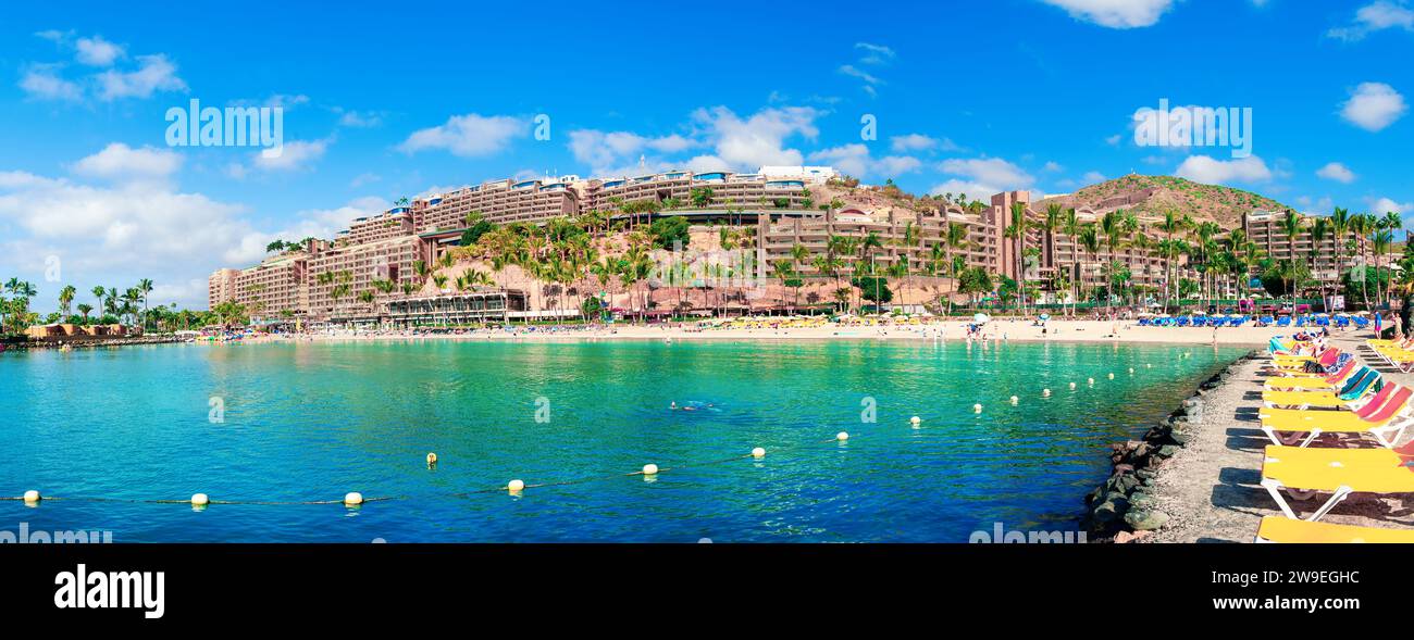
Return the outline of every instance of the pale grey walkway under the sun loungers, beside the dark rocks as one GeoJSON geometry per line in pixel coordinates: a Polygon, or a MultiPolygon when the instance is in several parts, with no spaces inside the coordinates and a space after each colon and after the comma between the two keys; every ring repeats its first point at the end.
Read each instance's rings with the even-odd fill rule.
{"type": "MultiPolygon", "coordinates": [[[[1398,373],[1365,346],[1365,338],[1338,336],[1342,350],[1356,353],[1366,365],[1398,384],[1414,383],[1414,374],[1398,373]]],[[[1145,537],[1148,543],[1251,543],[1263,516],[1281,510],[1261,487],[1263,451],[1271,444],[1260,429],[1257,411],[1266,374],[1264,359],[1243,363],[1229,384],[1205,397],[1205,420],[1193,439],[1155,476],[1158,510],[1168,524],[1145,537]]],[[[1410,435],[1406,435],[1406,442],[1410,435]]],[[[1401,442],[1403,444],[1403,442],[1401,442]]],[[[1312,446],[1374,446],[1373,439],[1324,437],[1312,446]]],[[[1299,516],[1308,516],[1325,499],[1291,500],[1299,516]]],[[[1414,528],[1414,494],[1352,494],[1324,521],[1365,527],[1414,528]]]]}

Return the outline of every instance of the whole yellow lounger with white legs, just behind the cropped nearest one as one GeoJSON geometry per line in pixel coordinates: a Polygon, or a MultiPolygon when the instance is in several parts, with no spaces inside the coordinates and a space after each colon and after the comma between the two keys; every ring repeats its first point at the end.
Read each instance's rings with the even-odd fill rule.
{"type": "Polygon", "coordinates": [[[1329,493],[1331,497],[1307,518],[1316,521],[1350,493],[1414,493],[1414,469],[1404,466],[1404,456],[1391,449],[1268,445],[1261,462],[1261,486],[1292,520],[1299,517],[1281,496],[1282,490],[1297,500],[1329,493]]]}

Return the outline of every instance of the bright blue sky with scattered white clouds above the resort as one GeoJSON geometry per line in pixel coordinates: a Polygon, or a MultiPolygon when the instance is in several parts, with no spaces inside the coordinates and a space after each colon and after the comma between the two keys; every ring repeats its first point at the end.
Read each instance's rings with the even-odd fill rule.
{"type": "Polygon", "coordinates": [[[0,278],[35,283],[37,308],[140,277],[153,302],[204,308],[211,270],[271,239],[641,157],[834,164],[974,198],[1174,174],[1414,216],[1408,1],[201,7],[0,10],[0,278]],[[164,113],[189,99],[281,105],[284,155],[168,147],[164,113]],[[1251,157],[1137,146],[1133,116],[1159,99],[1251,107],[1251,157]]]}

